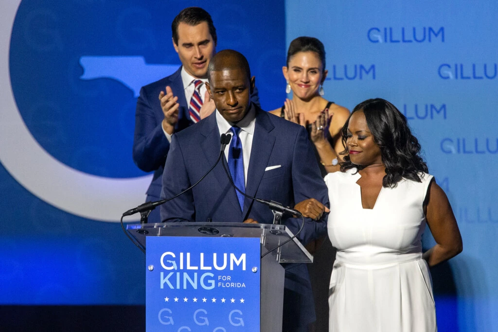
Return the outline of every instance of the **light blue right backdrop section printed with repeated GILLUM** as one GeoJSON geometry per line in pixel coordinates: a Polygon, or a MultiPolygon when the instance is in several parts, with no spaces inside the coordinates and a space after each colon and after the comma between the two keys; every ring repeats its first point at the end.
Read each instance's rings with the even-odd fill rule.
{"type": "MultiPolygon", "coordinates": [[[[408,117],[447,193],[464,251],[432,269],[439,331],[498,331],[498,23],[496,1],[285,4],[286,42],[325,44],[325,95],[350,110],[368,98],[408,117]]],[[[427,231],[424,246],[433,244],[427,231]]]]}

